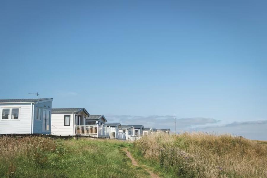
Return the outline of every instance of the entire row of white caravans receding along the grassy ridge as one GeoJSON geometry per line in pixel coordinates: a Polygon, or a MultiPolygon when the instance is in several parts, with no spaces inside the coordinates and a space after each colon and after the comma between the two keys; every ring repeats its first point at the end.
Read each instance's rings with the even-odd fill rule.
{"type": "MultiPolygon", "coordinates": [[[[52,108],[53,98],[0,100],[0,134],[52,134],[136,140],[153,133],[143,125],[107,124],[85,108],[52,108]]],[[[158,129],[159,130],[159,129],[158,129]]],[[[168,131],[164,131],[169,133],[168,131]]]]}

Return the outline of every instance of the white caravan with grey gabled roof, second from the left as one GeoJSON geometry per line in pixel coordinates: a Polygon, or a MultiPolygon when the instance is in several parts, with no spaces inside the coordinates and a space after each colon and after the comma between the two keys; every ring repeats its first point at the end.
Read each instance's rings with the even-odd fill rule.
{"type": "Polygon", "coordinates": [[[85,108],[53,108],[51,133],[58,136],[74,136],[85,125],[89,113],[85,108]]]}

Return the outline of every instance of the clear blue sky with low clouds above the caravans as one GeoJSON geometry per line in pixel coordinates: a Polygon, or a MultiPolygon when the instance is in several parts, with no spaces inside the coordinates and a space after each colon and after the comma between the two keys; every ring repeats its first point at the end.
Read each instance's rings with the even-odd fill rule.
{"type": "Polygon", "coordinates": [[[0,98],[267,140],[266,5],[1,1],[0,98]]]}

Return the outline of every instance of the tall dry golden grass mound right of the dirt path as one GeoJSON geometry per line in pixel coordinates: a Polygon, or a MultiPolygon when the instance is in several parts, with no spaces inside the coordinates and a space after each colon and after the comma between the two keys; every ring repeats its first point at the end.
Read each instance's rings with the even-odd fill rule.
{"type": "Polygon", "coordinates": [[[145,136],[134,142],[132,152],[165,177],[267,177],[267,145],[242,137],[145,136]]]}

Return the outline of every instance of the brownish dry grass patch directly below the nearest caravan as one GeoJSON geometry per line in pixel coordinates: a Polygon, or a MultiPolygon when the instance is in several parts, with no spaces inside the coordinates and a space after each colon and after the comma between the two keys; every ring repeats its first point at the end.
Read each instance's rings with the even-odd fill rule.
{"type": "Polygon", "coordinates": [[[21,159],[22,157],[27,157],[34,163],[43,166],[47,161],[47,157],[44,156],[47,152],[58,152],[56,142],[50,138],[2,137],[0,138],[0,175],[14,177],[19,161],[24,162],[25,166],[27,165],[21,159]],[[6,167],[8,169],[7,171],[6,167]]]}

